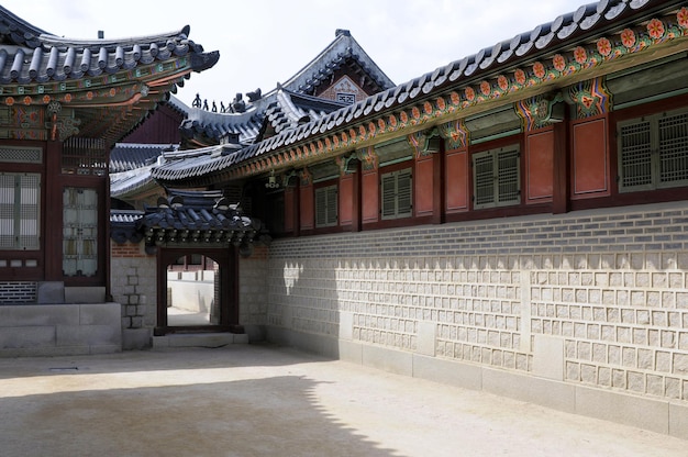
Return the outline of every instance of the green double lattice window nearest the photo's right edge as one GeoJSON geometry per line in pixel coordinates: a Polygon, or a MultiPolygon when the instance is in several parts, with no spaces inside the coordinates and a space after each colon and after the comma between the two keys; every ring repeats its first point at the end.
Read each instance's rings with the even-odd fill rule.
{"type": "Polygon", "coordinates": [[[619,190],[688,185],[688,111],[619,123],[619,190]]]}

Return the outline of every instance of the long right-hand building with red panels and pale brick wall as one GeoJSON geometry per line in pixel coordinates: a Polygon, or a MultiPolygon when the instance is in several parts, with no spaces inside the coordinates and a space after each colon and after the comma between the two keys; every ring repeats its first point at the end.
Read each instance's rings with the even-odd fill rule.
{"type": "Polygon", "coordinates": [[[687,55],[685,2],[599,1],[151,176],[267,223],[253,335],[688,437],[687,55]]]}

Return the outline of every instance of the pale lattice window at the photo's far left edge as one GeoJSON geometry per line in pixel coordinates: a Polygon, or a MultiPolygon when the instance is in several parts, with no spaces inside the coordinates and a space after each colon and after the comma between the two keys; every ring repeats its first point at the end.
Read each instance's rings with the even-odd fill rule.
{"type": "Polygon", "coordinates": [[[0,174],[0,249],[41,247],[41,175],[0,174]]]}

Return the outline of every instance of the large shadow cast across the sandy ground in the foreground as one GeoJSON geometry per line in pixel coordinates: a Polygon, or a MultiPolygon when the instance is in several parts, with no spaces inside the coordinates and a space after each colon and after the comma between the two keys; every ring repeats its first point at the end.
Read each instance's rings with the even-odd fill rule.
{"type": "MultiPolygon", "coordinates": [[[[155,383],[154,371],[146,377],[155,383]]],[[[74,389],[78,377],[69,379],[74,389]]],[[[395,455],[323,411],[319,382],[306,377],[181,383],[0,399],[12,417],[0,426],[2,454],[395,455]]]]}

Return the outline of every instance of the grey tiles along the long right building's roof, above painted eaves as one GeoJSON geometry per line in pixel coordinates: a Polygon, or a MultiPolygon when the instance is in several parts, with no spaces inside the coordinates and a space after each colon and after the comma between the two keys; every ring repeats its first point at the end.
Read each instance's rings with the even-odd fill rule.
{"type": "Polygon", "coordinates": [[[390,113],[423,100],[434,101],[452,90],[513,69],[518,64],[532,65],[543,56],[570,49],[572,46],[603,34],[621,32],[630,23],[642,24],[655,14],[674,11],[684,4],[684,1],[678,0],[599,0],[580,7],[575,12],[563,14],[550,23],[539,25],[532,31],[518,34],[511,40],[499,42],[492,47],[484,48],[406,83],[368,97],[356,104],[312,119],[297,127],[282,130],[258,144],[229,155],[208,155],[184,160],[181,164],[174,164],[174,167],[166,164],[155,168],[153,176],[169,183],[206,176],[209,170],[217,174],[286,146],[322,136],[325,132],[345,131],[346,126],[360,124],[375,115],[390,113]]]}

